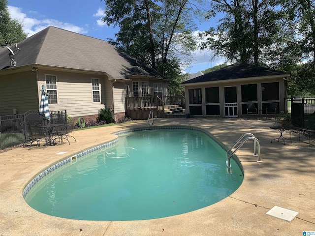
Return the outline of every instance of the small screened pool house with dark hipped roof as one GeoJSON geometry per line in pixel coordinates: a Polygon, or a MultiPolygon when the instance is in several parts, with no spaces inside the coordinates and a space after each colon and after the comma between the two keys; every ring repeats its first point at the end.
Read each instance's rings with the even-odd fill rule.
{"type": "Polygon", "coordinates": [[[186,111],[196,117],[243,117],[285,110],[290,74],[237,62],[185,81],[186,111]]]}

